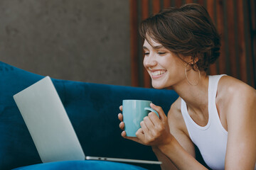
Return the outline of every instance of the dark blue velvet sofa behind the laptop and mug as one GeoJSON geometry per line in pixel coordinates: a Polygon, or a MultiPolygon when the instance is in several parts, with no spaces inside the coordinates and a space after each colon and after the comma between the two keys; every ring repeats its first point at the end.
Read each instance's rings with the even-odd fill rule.
{"type": "MultiPolygon", "coordinates": [[[[60,164],[68,164],[68,162],[41,164],[33,140],[13,99],[14,94],[42,78],[43,76],[38,74],[0,62],[0,169],[2,170],[33,164],[39,164],[34,165],[35,169],[39,166],[58,167],[60,164]]],[[[86,155],[156,160],[151,147],[139,145],[120,136],[122,131],[119,130],[117,119],[119,106],[122,105],[123,99],[151,100],[156,105],[162,106],[167,113],[171,103],[178,97],[174,91],[59,79],[53,79],[53,84],[86,155]]],[[[110,166],[122,165],[110,162],[99,163],[110,166]]],[[[87,167],[90,164],[96,163],[70,162],[70,166],[87,167]]],[[[139,164],[139,166],[159,169],[156,165],[139,164]]],[[[29,166],[27,168],[30,169],[29,166]]]]}

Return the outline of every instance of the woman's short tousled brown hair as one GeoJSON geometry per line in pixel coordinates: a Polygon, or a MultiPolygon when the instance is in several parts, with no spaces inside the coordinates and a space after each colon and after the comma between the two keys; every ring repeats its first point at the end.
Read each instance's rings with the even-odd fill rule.
{"type": "Polygon", "coordinates": [[[139,33],[152,38],[176,55],[191,56],[199,70],[206,71],[220,55],[220,35],[206,8],[186,4],[166,8],[142,21],[139,33]]]}

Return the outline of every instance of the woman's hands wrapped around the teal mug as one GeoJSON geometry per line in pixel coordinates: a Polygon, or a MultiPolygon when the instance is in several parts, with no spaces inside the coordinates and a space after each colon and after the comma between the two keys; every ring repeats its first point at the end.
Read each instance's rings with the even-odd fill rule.
{"type": "MultiPolygon", "coordinates": [[[[155,106],[153,103],[151,103],[150,106],[159,113],[159,117],[154,112],[149,113],[149,115],[140,123],[142,128],[137,130],[137,137],[127,137],[125,131],[123,131],[121,135],[124,138],[139,142],[143,145],[156,147],[159,145],[166,145],[170,142],[169,140],[171,140],[172,137],[167,117],[161,107],[155,106]]],[[[120,111],[122,111],[122,106],[120,106],[120,111]]],[[[124,130],[124,122],[122,122],[123,117],[121,113],[119,113],[118,118],[121,121],[119,128],[124,130]]]]}

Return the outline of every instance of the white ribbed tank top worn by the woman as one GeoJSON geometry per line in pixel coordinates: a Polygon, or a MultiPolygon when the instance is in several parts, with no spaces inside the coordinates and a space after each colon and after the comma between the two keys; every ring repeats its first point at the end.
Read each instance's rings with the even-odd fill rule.
{"type": "Polygon", "coordinates": [[[190,115],[185,101],[181,99],[181,113],[188,129],[188,135],[200,150],[202,157],[210,169],[224,169],[228,132],[220,123],[215,105],[218,81],[223,75],[209,76],[208,85],[208,123],[202,127],[197,125],[190,115]]]}

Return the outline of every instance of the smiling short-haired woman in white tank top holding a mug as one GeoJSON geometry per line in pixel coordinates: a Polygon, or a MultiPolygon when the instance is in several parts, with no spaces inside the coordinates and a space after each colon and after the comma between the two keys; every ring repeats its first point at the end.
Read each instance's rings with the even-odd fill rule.
{"type": "Polygon", "coordinates": [[[152,86],[171,86],[179,98],[168,117],[152,103],[159,118],[149,113],[137,137],[125,131],[122,137],[151,146],[162,169],[206,169],[195,159],[194,144],[210,169],[255,169],[256,91],[233,77],[206,74],[220,55],[220,36],[206,9],[168,8],[143,21],[140,34],[152,86]]]}

